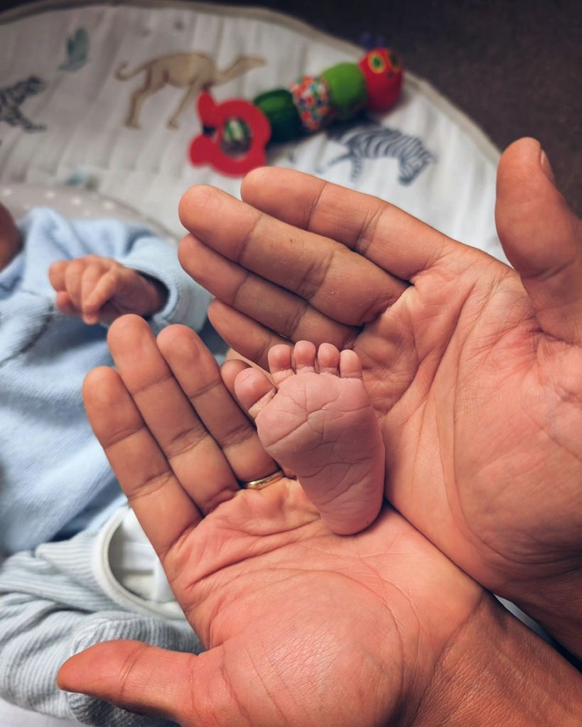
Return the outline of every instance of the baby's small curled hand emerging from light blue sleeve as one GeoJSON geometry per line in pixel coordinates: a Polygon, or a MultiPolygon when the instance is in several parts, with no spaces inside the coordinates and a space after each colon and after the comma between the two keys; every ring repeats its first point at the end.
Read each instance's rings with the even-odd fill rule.
{"type": "Polygon", "coordinates": [[[150,316],[167,298],[162,283],[108,257],[60,260],[49,268],[57,308],[87,324],[110,324],[124,313],[150,316]]]}

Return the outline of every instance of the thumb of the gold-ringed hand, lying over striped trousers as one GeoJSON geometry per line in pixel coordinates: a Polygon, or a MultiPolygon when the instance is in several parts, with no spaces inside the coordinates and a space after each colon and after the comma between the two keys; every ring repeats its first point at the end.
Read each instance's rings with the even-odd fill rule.
{"type": "Polygon", "coordinates": [[[81,692],[184,727],[228,724],[236,710],[222,676],[220,651],[196,655],[140,641],[98,643],[71,656],[60,667],[57,684],[64,691],[81,692]]]}

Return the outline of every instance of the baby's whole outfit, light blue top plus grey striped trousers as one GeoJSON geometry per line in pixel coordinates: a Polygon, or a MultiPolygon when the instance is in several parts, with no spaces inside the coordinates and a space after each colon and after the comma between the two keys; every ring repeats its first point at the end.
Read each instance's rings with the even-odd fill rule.
{"type": "Polygon", "coordinates": [[[151,318],[154,332],[202,328],[210,294],[180,268],[175,246],[146,228],[35,209],[20,230],[23,250],[0,271],[0,696],[103,727],[167,724],[55,683],[68,656],[100,640],[202,647],[177,605],[165,617],[164,604],[133,596],[111,575],[100,540],[127,501],[81,401],[87,371],[113,364],[107,331],[55,308],[48,269],[98,254],[156,278],[168,297],[151,318]]]}

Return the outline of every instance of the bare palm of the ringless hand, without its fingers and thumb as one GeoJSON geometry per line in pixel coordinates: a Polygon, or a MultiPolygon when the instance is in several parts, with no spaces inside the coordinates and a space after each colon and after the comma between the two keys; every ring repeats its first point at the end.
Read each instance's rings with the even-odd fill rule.
{"type": "Polygon", "coordinates": [[[519,598],[580,554],[582,349],[541,330],[516,273],[462,252],[413,276],[354,350],[388,498],[479,582],[519,598]]]}

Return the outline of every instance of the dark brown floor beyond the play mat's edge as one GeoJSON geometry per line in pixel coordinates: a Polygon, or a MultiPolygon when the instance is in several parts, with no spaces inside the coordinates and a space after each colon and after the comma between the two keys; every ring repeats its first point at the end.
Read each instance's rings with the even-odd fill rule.
{"type": "MultiPolygon", "coordinates": [[[[15,7],[22,0],[1,2],[15,7]]],[[[222,3],[221,3],[222,4],[222,3]]],[[[248,5],[229,0],[231,5],[248,5]]],[[[582,0],[263,0],[355,41],[383,36],[503,148],[538,138],[582,214],[582,0]]]]}

